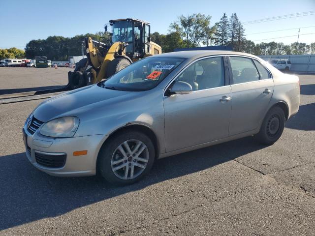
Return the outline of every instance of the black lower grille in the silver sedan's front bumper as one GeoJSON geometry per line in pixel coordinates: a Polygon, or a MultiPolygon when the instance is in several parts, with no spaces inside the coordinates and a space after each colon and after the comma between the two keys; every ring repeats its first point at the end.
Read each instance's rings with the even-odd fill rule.
{"type": "Polygon", "coordinates": [[[67,156],[66,154],[51,155],[35,151],[36,162],[41,166],[49,168],[63,167],[65,164],[66,156],[67,156]]]}

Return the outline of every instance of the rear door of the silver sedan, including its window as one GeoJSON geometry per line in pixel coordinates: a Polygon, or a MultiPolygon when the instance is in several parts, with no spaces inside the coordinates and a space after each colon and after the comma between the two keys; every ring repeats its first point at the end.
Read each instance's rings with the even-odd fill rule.
{"type": "Polygon", "coordinates": [[[232,111],[229,135],[254,130],[263,118],[274,82],[270,72],[256,59],[230,56],[232,111]]]}

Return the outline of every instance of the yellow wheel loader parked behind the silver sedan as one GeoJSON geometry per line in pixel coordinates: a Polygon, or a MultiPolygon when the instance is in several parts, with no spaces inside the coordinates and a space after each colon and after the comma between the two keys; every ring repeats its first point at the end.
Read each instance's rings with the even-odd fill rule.
{"type": "Polygon", "coordinates": [[[87,58],[77,62],[73,72],[68,72],[65,90],[98,83],[136,60],[162,53],[161,47],[151,42],[148,22],[130,18],[111,20],[105,24],[105,32],[108,25],[112,27],[110,44],[85,38],[87,58]]]}

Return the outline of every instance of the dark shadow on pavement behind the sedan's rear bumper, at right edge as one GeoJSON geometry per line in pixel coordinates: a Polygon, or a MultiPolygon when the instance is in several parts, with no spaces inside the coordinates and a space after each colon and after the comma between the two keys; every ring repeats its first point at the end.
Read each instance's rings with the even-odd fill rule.
{"type": "Polygon", "coordinates": [[[285,124],[286,128],[315,130],[315,103],[301,105],[299,112],[285,124]]]}

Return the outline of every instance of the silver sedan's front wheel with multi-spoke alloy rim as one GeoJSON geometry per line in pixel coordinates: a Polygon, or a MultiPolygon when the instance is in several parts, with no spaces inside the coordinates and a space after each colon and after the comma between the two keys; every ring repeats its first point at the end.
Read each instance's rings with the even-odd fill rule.
{"type": "Polygon", "coordinates": [[[151,139],[129,130],[114,135],[101,148],[97,158],[97,173],[110,183],[127,185],[149,173],[155,159],[151,139]]]}

